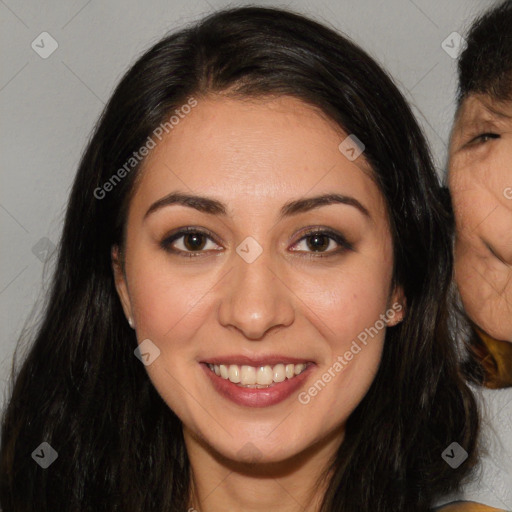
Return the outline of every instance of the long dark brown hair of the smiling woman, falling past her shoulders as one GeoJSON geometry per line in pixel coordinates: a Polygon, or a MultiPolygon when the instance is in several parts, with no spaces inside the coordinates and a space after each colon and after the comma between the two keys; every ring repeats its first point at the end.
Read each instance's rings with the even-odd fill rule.
{"type": "MultiPolygon", "coordinates": [[[[2,423],[4,512],[187,509],[190,465],[179,418],[156,392],[118,299],[111,248],[123,248],[137,166],[102,187],[193,96],[289,95],[365,144],[386,200],[405,320],[333,454],[323,512],[422,512],[471,468],[478,418],[447,328],[452,218],[427,143],[389,76],[330,28],[279,9],[216,12],[140,57],[117,86],[81,159],[47,307],[2,423]],[[57,452],[47,469],[31,453],[57,452]],[[469,458],[442,458],[456,441],[469,458]]],[[[341,142],[341,141],[340,141],[341,142]]]]}

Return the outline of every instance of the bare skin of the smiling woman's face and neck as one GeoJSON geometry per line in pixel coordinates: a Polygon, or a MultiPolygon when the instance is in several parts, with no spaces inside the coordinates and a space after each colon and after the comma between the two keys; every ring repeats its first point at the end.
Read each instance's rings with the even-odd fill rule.
{"type": "MultiPolygon", "coordinates": [[[[183,423],[193,499],[201,512],[313,511],[324,492],[314,479],[344,436],[345,422],[377,371],[379,331],[307,405],[297,393],[277,405],[250,408],[219,395],[199,361],[270,353],[313,361],[303,391],[357,335],[394,303],[392,242],[385,201],[364,157],[350,162],[338,145],[347,136],[297,99],[202,98],[152,150],[130,204],[125,271],[113,250],[116,287],[137,339],[161,351],[149,378],[183,423]],[[179,190],[218,199],[227,215],[170,205],[144,214],[179,190]],[[288,201],[324,193],[351,196],[284,219],[288,201]],[[166,251],[177,228],[208,229],[203,253],[166,251]],[[308,245],[308,227],[331,228],[352,244],[308,245]],[[236,248],[248,236],[262,247],[252,263],[236,248]],[[256,464],[254,462],[257,462],[256,464]]],[[[203,239],[200,239],[200,241],[203,239]]],[[[329,240],[329,239],[327,239],[329,240]]],[[[176,249],[193,251],[186,237],[176,249]]],[[[402,319],[403,310],[388,325],[402,319]]]]}

